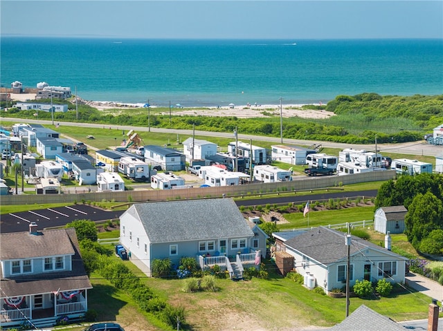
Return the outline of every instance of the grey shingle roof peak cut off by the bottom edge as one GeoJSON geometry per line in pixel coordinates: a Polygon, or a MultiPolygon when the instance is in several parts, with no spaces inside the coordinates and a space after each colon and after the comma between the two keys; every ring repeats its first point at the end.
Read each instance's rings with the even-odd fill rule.
{"type": "Polygon", "coordinates": [[[359,308],[354,310],[352,314],[347,316],[347,318],[337,324],[332,328],[325,329],[327,331],[396,331],[396,330],[406,330],[403,325],[392,321],[386,316],[374,312],[374,310],[361,305],[359,308]]]}

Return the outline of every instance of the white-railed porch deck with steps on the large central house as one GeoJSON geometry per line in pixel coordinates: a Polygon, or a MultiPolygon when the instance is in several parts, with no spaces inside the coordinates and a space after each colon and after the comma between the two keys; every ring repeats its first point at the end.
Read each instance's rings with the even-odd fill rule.
{"type": "Polygon", "coordinates": [[[228,272],[230,279],[242,279],[244,267],[258,268],[261,262],[260,251],[234,256],[202,256],[197,258],[202,270],[219,265],[222,272],[228,272]],[[258,254],[257,254],[258,252],[258,254]]]}

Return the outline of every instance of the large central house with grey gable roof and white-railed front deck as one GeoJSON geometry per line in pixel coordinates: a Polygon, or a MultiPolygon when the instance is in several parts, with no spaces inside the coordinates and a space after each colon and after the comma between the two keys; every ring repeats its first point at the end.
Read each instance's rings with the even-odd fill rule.
{"type": "Polygon", "coordinates": [[[136,203],[120,216],[120,243],[148,275],[156,259],[169,258],[179,265],[189,256],[203,269],[217,264],[231,277],[236,274],[233,263],[241,278],[240,268],[256,266],[256,254],[258,264],[266,256],[266,250],[261,251],[266,236],[246,223],[229,198],[136,203]]]}

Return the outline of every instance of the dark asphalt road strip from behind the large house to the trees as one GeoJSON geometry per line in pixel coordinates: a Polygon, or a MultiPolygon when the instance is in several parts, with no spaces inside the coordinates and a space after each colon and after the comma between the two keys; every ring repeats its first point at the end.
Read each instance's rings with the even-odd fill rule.
{"type": "Polygon", "coordinates": [[[309,196],[281,196],[277,198],[262,198],[262,199],[252,199],[252,200],[235,200],[237,206],[254,206],[254,205],[266,205],[266,203],[274,204],[274,203],[289,203],[294,202],[296,204],[306,203],[307,200],[329,200],[329,199],[338,199],[338,198],[354,198],[354,197],[374,197],[377,196],[377,190],[368,190],[368,191],[356,191],[356,192],[341,192],[334,191],[331,193],[320,193],[320,194],[311,194],[309,196]]]}

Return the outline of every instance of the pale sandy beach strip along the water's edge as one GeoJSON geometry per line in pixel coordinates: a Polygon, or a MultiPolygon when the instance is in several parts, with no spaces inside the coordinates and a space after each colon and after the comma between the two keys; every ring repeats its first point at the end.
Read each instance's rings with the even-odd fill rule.
{"type": "MultiPolygon", "coordinates": [[[[15,101],[30,101],[35,100],[35,94],[26,93],[11,93],[11,100],[15,101]]],[[[130,103],[119,103],[119,102],[109,102],[109,101],[88,101],[82,100],[80,97],[79,102],[88,104],[98,110],[106,109],[127,109],[127,108],[142,108],[143,104],[130,104],[130,103]]],[[[314,109],[302,109],[303,104],[282,104],[282,117],[302,117],[302,118],[314,118],[314,119],[324,119],[334,116],[334,113],[330,111],[318,111],[314,109]]],[[[155,109],[156,106],[151,106],[150,108],[155,109]]],[[[163,112],[163,115],[169,115],[169,112],[163,112]]],[[[183,107],[177,108],[174,106],[174,115],[204,115],[204,116],[235,116],[235,117],[275,117],[280,116],[280,104],[260,104],[260,105],[234,105],[234,106],[220,106],[220,107],[183,107]]]]}

